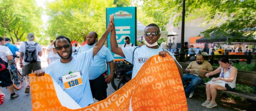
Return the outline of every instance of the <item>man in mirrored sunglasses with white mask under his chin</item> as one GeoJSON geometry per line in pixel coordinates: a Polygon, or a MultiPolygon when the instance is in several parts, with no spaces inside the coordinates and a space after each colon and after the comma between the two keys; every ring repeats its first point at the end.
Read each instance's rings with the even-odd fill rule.
{"type": "MultiPolygon", "coordinates": [[[[115,27],[113,27],[112,30],[115,30],[115,27]]],[[[146,45],[141,46],[141,47],[118,47],[118,44],[116,42],[115,38],[115,31],[114,33],[111,33],[111,35],[114,34],[114,36],[111,36],[110,41],[111,41],[111,51],[115,54],[121,55],[124,60],[128,61],[129,63],[133,63],[133,70],[132,70],[132,78],[134,78],[142,65],[153,55],[159,54],[162,57],[165,57],[165,54],[171,55],[175,63],[178,67],[179,73],[181,78],[183,77],[183,71],[176,61],[174,55],[167,50],[164,50],[160,46],[158,46],[157,41],[160,38],[160,28],[156,24],[149,24],[145,28],[145,43],[146,45]],[[137,48],[137,49],[135,49],[137,48]],[[133,55],[134,51],[134,55],[133,55]],[[134,58],[132,60],[132,58],[134,58]]]]}

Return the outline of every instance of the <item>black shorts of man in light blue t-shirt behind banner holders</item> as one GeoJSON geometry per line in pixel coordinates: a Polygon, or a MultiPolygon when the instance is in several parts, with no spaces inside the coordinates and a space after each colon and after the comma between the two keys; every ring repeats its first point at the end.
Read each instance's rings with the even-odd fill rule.
{"type": "Polygon", "coordinates": [[[89,80],[92,97],[99,101],[104,100],[107,96],[106,89],[108,88],[108,83],[105,82],[103,74],[94,80],[89,80]]]}

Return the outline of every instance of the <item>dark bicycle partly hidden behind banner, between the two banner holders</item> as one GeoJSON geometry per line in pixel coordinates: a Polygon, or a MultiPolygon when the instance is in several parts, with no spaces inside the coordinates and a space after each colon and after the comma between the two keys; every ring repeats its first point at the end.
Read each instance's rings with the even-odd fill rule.
{"type": "Polygon", "coordinates": [[[111,81],[111,86],[114,90],[120,89],[131,80],[131,70],[132,65],[127,64],[126,61],[115,62],[114,76],[111,81]]]}

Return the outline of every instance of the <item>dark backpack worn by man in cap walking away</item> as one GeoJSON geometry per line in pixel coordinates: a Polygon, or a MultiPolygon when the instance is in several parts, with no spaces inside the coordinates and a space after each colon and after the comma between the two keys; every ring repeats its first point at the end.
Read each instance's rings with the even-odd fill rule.
{"type": "Polygon", "coordinates": [[[38,43],[33,44],[28,44],[25,41],[25,53],[24,53],[24,61],[28,63],[34,63],[37,60],[37,54],[36,54],[36,45],[38,43]]]}

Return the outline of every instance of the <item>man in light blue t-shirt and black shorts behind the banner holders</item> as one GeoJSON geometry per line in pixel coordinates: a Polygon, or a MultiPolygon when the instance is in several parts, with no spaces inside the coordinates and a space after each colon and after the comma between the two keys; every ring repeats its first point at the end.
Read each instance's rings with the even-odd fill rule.
{"type": "MultiPolygon", "coordinates": [[[[80,48],[78,54],[90,50],[95,46],[98,34],[90,32],[87,35],[87,44],[80,48]]],[[[89,82],[92,91],[92,97],[98,101],[104,100],[107,96],[107,83],[110,83],[114,74],[114,57],[110,50],[102,46],[101,50],[94,56],[93,63],[89,66],[89,82]],[[110,74],[107,75],[106,62],[109,64],[110,74]],[[105,79],[104,79],[105,74],[105,79]]]]}

